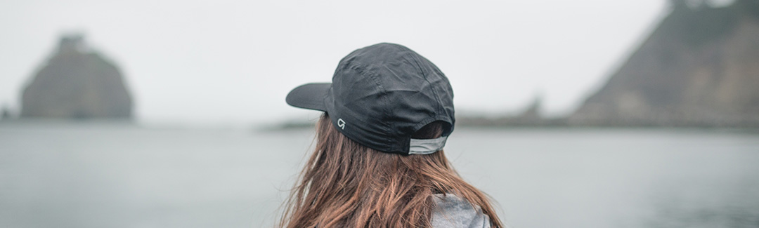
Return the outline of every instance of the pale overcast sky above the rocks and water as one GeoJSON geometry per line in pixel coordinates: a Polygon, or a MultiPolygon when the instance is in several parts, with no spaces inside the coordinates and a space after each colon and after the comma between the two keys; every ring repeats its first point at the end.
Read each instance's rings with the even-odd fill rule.
{"type": "Polygon", "coordinates": [[[377,42],[406,45],[446,73],[459,113],[519,111],[536,95],[567,114],[667,13],[636,1],[0,2],[0,104],[58,43],[81,32],[126,77],[137,119],[272,123],[313,112],[285,95],[329,82],[338,61],[377,42]]]}

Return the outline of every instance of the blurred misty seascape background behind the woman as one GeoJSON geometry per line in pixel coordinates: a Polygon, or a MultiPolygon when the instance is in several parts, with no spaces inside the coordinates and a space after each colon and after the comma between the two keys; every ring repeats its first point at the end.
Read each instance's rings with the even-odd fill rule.
{"type": "Polygon", "coordinates": [[[0,2],[0,227],[270,227],[285,95],[406,45],[509,227],[759,227],[759,1],[0,2]]]}

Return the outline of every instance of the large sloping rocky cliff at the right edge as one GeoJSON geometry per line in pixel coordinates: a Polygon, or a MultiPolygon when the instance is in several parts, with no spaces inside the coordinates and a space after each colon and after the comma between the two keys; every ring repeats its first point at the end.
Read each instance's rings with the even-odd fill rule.
{"type": "Polygon", "coordinates": [[[569,123],[759,126],[759,1],[723,8],[673,2],[569,123]]]}

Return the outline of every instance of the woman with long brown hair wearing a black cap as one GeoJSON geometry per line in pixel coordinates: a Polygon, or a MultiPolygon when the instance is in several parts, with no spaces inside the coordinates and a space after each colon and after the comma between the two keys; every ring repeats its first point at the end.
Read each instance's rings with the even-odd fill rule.
{"type": "Polygon", "coordinates": [[[502,227],[442,151],[455,123],[448,79],[411,49],[358,49],[332,83],[299,86],[287,102],[325,113],[280,226],[502,227]]]}

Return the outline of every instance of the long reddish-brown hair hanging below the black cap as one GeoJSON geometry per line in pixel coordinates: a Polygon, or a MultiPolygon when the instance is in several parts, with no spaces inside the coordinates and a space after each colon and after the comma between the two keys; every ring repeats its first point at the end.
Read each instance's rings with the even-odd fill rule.
{"type": "MultiPolygon", "coordinates": [[[[433,122],[413,138],[433,139],[433,122]]],[[[458,176],[442,150],[430,155],[376,151],[348,139],[327,114],[317,122],[317,146],[285,201],[280,227],[430,227],[433,194],[455,194],[502,224],[483,192],[458,176]]]]}

